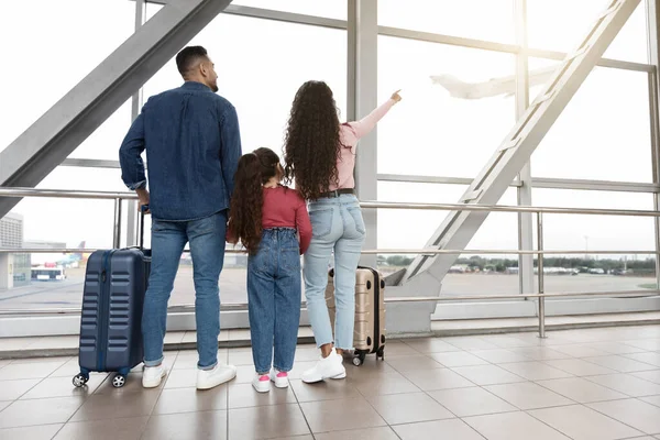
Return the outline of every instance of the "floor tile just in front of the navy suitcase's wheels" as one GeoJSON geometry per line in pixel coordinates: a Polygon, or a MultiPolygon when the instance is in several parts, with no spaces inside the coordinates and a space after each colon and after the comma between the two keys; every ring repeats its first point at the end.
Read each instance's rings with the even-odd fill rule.
{"type": "Polygon", "coordinates": [[[95,394],[85,402],[70,421],[150,416],[157,399],[156,393],[95,394]]]}

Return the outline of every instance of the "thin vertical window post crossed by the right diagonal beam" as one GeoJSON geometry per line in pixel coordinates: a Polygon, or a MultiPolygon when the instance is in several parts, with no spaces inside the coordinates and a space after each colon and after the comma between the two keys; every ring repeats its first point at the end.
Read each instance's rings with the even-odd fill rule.
{"type": "MultiPolygon", "coordinates": [[[[527,0],[516,0],[516,38],[522,51],[516,55],[516,120],[525,116],[529,107],[529,68],[527,56],[527,0]]],[[[531,206],[531,161],[518,173],[518,205],[531,206]]],[[[518,215],[518,249],[534,249],[534,222],[530,213],[518,215]]],[[[518,279],[520,294],[534,292],[534,255],[518,256],[518,279]]]]}

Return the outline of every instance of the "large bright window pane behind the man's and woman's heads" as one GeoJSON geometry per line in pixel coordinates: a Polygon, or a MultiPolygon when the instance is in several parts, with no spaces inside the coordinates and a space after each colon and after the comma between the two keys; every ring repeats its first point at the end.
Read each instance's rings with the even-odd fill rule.
{"type": "MultiPolygon", "coordinates": [[[[219,94],[239,113],[243,152],[267,146],[279,154],[290,103],[306,80],[326,80],[345,114],[345,31],[219,15],[189,45],[204,45],[213,59],[219,94]]],[[[182,82],[169,62],[146,82],[144,98],[182,82]]]]}

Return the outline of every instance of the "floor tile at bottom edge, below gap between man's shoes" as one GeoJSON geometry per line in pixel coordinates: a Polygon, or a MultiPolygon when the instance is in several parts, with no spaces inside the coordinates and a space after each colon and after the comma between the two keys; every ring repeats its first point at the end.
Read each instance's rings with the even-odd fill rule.
{"type": "Polygon", "coordinates": [[[227,440],[227,410],[152,416],[142,439],[227,440]]]}

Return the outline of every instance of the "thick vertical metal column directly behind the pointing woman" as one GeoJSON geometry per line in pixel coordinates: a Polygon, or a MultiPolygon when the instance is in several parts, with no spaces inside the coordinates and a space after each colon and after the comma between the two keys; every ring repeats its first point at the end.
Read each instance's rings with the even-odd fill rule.
{"type": "MultiPolygon", "coordinates": [[[[349,0],[349,119],[367,116],[378,105],[378,4],[376,0],[349,0]]],[[[361,200],[377,200],[377,130],[360,141],[355,188],[361,200]]],[[[363,211],[365,248],[377,248],[377,212],[363,211]]],[[[361,265],[376,267],[376,255],[364,255],[361,265]]]]}

